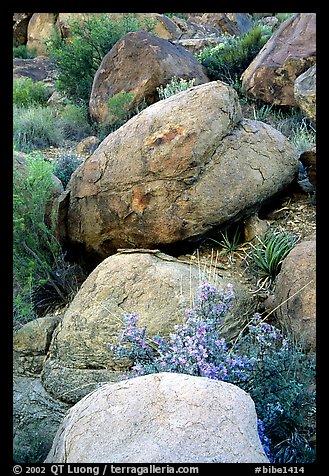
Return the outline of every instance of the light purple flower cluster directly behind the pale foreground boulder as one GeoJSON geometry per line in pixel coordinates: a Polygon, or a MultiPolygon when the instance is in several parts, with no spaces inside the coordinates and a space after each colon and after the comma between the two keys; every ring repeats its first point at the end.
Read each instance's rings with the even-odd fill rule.
{"type": "Polygon", "coordinates": [[[160,336],[148,339],[146,329],[137,327],[138,316],[129,314],[118,338],[120,344],[111,350],[134,362],[135,375],[167,371],[241,382],[248,378],[253,361],[229,354],[218,330],[234,297],[231,284],[224,291],[203,283],[194,307],[185,311],[184,324],[175,326],[169,340],[160,336]]]}

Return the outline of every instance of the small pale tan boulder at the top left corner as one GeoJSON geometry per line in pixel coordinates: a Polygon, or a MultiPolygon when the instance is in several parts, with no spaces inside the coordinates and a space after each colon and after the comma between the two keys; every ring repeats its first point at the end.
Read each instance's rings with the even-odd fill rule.
{"type": "Polygon", "coordinates": [[[57,13],[33,13],[27,27],[27,47],[39,55],[47,54],[46,40],[58,33],[57,13]]]}

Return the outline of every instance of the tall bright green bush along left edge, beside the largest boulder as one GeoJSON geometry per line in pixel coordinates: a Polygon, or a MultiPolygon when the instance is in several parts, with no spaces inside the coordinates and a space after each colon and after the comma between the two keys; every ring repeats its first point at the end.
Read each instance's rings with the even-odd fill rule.
{"type": "Polygon", "coordinates": [[[50,162],[40,153],[29,154],[26,170],[15,168],[13,178],[13,267],[19,285],[14,320],[21,322],[23,317],[34,318],[38,309],[47,309],[51,303],[66,303],[75,290],[76,277],[45,223],[54,189],[50,162]]]}

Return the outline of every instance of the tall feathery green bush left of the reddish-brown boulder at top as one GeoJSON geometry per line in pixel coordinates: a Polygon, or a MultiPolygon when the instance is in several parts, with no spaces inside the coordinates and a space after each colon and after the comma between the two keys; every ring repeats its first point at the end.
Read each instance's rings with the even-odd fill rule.
{"type": "Polygon", "coordinates": [[[50,57],[58,72],[57,89],[77,104],[88,105],[95,73],[103,57],[126,33],[153,25],[127,13],[117,19],[107,14],[71,20],[71,37],[60,39],[54,35],[47,42],[50,57]]]}

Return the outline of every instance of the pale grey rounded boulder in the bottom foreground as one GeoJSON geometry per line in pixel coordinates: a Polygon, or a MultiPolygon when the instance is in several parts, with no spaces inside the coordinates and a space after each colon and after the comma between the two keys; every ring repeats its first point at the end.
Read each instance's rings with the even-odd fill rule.
{"type": "Polygon", "coordinates": [[[103,385],[72,407],[45,463],[268,463],[250,396],[159,373],[103,385]]]}

